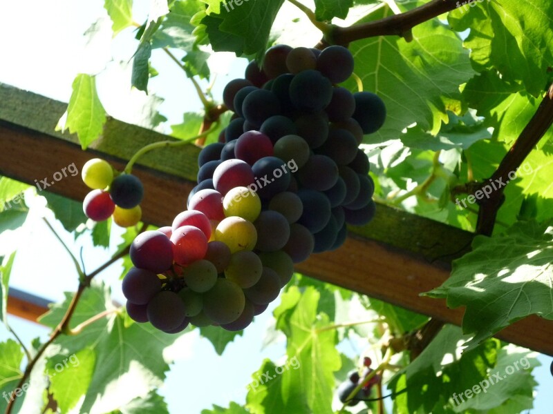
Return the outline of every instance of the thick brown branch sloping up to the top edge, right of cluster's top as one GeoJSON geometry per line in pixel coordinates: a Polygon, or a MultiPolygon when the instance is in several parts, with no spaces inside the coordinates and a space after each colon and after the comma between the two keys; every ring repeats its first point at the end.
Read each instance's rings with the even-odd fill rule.
{"type": "Polygon", "coordinates": [[[408,12],[394,14],[376,21],[359,23],[349,27],[332,26],[328,41],[346,46],[350,42],[367,37],[397,35],[409,40],[410,31],[420,23],[457,8],[458,0],[432,0],[408,12]]]}

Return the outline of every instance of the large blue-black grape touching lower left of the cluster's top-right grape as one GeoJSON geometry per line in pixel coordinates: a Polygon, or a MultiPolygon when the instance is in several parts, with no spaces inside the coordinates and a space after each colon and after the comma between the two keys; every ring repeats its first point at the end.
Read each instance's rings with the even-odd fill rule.
{"type": "Polygon", "coordinates": [[[332,99],[332,83],[317,70],[303,70],[290,82],[290,99],[301,110],[323,110],[332,99]]]}

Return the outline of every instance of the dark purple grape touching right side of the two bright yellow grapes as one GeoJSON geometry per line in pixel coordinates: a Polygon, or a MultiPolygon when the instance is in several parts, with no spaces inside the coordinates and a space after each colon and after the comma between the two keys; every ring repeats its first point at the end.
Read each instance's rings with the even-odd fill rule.
{"type": "Polygon", "coordinates": [[[257,230],[256,250],[274,252],[280,250],[290,237],[290,225],[286,217],[274,210],[262,211],[254,221],[257,230]]]}

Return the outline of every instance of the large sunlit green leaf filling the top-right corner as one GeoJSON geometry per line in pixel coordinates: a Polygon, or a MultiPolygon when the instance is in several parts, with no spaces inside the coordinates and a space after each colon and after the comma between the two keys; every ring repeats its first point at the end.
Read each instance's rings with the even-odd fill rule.
{"type": "Polygon", "coordinates": [[[484,1],[469,12],[449,14],[453,30],[470,29],[465,47],[478,71],[496,68],[508,82],[523,83],[537,96],[553,66],[553,3],[550,0],[484,1]]]}

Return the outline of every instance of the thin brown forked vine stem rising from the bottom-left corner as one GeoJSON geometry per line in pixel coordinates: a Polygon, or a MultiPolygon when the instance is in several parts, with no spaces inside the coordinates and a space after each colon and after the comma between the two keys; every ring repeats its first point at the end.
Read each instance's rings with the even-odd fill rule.
{"type": "MultiPolygon", "coordinates": [[[[52,226],[49,226],[49,227],[50,227],[50,229],[53,230],[52,226]]],[[[140,233],[142,233],[144,230],[146,230],[146,228],[147,228],[147,224],[143,224],[142,228],[140,229],[140,233]]],[[[58,236],[58,239],[60,240],[60,242],[62,242],[62,240],[59,238],[59,236],[58,236]]],[[[62,242],[62,244],[64,244],[64,243],[62,242]]],[[[65,244],[64,244],[64,246],[65,246],[65,244]]],[[[71,328],[69,328],[69,323],[71,322],[71,318],[73,317],[73,314],[75,313],[75,309],[77,308],[77,304],[79,303],[79,300],[81,299],[84,290],[88,286],[90,286],[90,284],[92,282],[92,279],[98,273],[101,273],[105,268],[107,268],[108,266],[111,266],[111,264],[114,264],[119,259],[124,257],[124,255],[129,253],[129,248],[130,247],[131,247],[130,245],[126,246],[126,248],[124,248],[119,253],[114,255],[111,259],[109,259],[107,262],[102,264],[102,266],[100,266],[99,268],[94,270],[90,275],[86,275],[86,274],[83,273],[84,277],[82,277],[82,279],[81,279],[82,270],[79,266],[79,263],[77,262],[77,260],[73,256],[73,253],[71,253],[71,251],[68,250],[68,248],[66,247],[66,250],[68,251],[69,255],[71,255],[71,257],[73,257],[73,262],[75,262],[75,268],[77,269],[77,273],[79,273],[79,287],[77,288],[77,292],[75,292],[75,295],[73,295],[73,299],[71,299],[71,304],[69,304],[69,307],[67,308],[67,311],[66,311],[64,317],[62,317],[62,320],[54,328],[54,331],[50,334],[50,337],[48,338],[48,341],[46,341],[41,346],[41,348],[39,348],[39,350],[35,354],[35,357],[33,357],[32,359],[29,359],[29,362],[28,362],[28,364],[25,368],[25,371],[24,371],[23,375],[21,376],[21,379],[17,383],[17,386],[15,386],[14,390],[17,390],[17,389],[21,388],[23,386],[23,384],[25,384],[25,382],[30,377],[30,373],[32,372],[32,368],[35,368],[35,365],[37,364],[40,357],[46,351],[46,348],[48,348],[48,346],[53,344],[53,342],[57,339],[57,337],[59,337],[59,335],[62,335],[62,334],[67,335],[68,333],[71,333],[71,328]]],[[[93,318],[91,318],[91,319],[93,319],[93,318]]],[[[83,324],[84,323],[85,322],[83,322],[83,324]]],[[[20,393],[19,395],[22,395],[22,394],[20,393]]],[[[13,407],[15,406],[15,401],[17,400],[17,396],[18,396],[18,394],[14,393],[13,397],[8,402],[8,406],[6,407],[6,414],[11,414],[12,413],[13,407]]]]}

